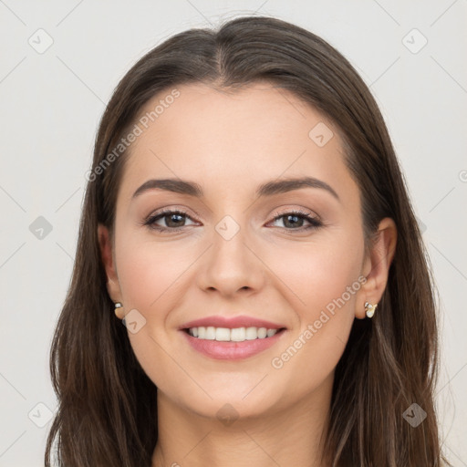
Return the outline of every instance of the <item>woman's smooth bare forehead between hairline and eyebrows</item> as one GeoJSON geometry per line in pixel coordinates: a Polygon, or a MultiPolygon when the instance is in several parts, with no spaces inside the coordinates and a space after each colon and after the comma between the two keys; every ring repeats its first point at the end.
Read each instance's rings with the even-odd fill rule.
{"type": "Polygon", "coordinates": [[[348,178],[332,122],[291,91],[267,82],[235,90],[176,86],[150,99],[139,119],[150,115],[130,146],[123,176],[128,190],[151,176],[223,189],[281,175],[337,178],[341,186],[348,178]],[[178,97],[167,99],[177,95],[173,89],[178,97]]]}

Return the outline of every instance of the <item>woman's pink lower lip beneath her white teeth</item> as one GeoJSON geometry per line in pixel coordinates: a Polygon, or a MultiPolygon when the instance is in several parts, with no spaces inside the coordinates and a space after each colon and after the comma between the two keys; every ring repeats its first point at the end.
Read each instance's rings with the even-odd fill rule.
{"type": "Polygon", "coordinates": [[[263,352],[266,348],[274,346],[285,333],[285,329],[275,333],[272,337],[244,340],[243,342],[223,342],[219,340],[199,339],[198,337],[192,337],[186,331],[182,330],[181,332],[192,348],[206,357],[220,360],[238,360],[253,357],[256,354],[263,352]]]}

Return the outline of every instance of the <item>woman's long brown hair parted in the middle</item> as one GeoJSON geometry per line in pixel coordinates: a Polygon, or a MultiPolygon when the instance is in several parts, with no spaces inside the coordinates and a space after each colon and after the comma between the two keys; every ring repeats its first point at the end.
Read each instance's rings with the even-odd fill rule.
{"type": "Polygon", "coordinates": [[[325,40],[279,19],[244,16],[216,30],[182,32],[153,48],[121,79],[100,121],[73,275],[51,348],[59,405],[47,438],[47,467],[54,440],[58,465],[66,467],[149,467],[158,440],[157,389],[114,316],[99,252],[98,223],[112,232],[128,158],[122,150],[104,165],[110,151],[141,107],[164,90],[192,82],[234,90],[258,80],[294,92],[337,125],[358,183],[366,238],[383,217],[398,228],[378,312],[355,320],[337,364],[325,458],[333,467],[441,465],[433,400],[435,293],[379,108],[348,60],[325,40]],[[427,414],[417,427],[403,417],[412,403],[427,414]]]}

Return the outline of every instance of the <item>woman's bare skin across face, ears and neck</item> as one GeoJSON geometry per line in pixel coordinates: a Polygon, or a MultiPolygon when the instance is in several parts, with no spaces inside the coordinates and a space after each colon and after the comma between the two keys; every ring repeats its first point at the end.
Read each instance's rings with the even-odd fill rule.
{"type": "MultiPolygon", "coordinates": [[[[260,82],[233,93],[199,83],[178,89],[180,97],[130,147],[115,235],[99,225],[109,296],[123,304],[119,317],[137,309],[146,319],[129,338],[158,387],[152,465],[324,467],[319,438],[334,371],[354,319],[365,318],[364,303],[382,296],[396,227],[381,221],[376,242],[365,249],[358,185],[337,129],[294,94],[260,82]],[[318,122],[334,132],[323,147],[308,136],[318,122]],[[254,197],[261,183],[304,175],[327,182],[339,200],[319,188],[254,197]],[[132,199],[154,178],[197,182],[205,195],[153,189],[132,199]],[[166,207],[187,213],[177,224],[181,231],[142,225],[166,207]],[[274,220],[294,209],[323,225],[303,230],[306,220],[296,226],[287,216],[274,220]],[[225,215],[240,227],[230,240],[215,230],[225,215]],[[355,291],[358,277],[367,280],[355,291]],[[307,326],[353,284],[345,305],[304,339],[307,326]],[[178,330],[212,315],[249,315],[287,329],[254,357],[215,360],[193,350],[178,330]],[[300,336],[306,343],[274,368],[272,359],[300,336]],[[227,403],[239,417],[228,426],[216,416],[227,403]]],[[[170,222],[169,215],[157,224],[173,229],[170,222]]]]}

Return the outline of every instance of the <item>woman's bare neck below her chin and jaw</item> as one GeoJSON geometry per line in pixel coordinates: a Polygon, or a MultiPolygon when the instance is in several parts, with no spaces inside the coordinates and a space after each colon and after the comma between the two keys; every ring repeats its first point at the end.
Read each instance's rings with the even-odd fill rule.
{"type": "Polygon", "coordinates": [[[152,467],[327,467],[320,461],[333,375],[286,410],[229,424],[185,410],[158,390],[159,436],[152,467]]]}

